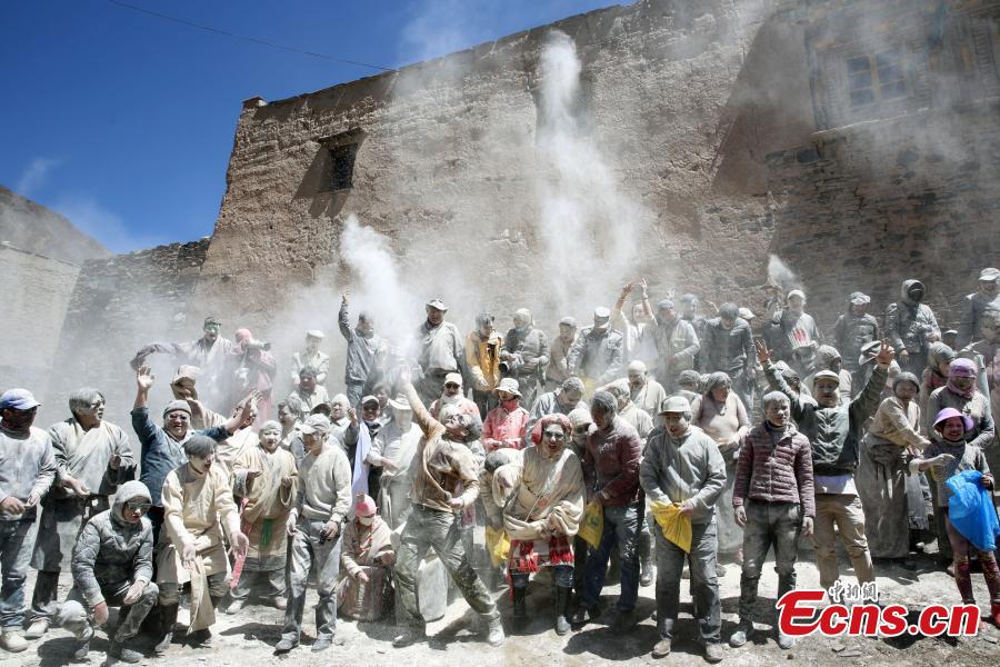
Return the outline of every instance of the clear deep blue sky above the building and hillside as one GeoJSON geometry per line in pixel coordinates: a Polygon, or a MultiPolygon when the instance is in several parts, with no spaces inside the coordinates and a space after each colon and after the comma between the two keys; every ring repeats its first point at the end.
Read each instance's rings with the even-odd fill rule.
{"type": "MultiPolygon", "coordinates": [[[[389,68],[616,3],[121,1],[389,68]]],[[[0,185],[62,212],[118,252],[211,233],[242,100],[287,98],[379,71],[110,0],[0,2],[0,185]]]]}

